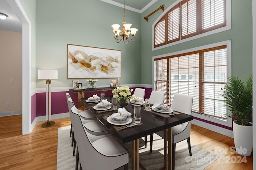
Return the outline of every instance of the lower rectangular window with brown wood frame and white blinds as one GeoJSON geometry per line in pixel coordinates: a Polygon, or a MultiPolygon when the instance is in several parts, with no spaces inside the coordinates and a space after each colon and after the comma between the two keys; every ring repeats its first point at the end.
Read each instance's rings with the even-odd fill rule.
{"type": "Polygon", "coordinates": [[[175,94],[188,94],[194,97],[192,111],[223,118],[226,82],[226,45],[154,59],[154,87],[166,92],[168,105],[175,94]]]}

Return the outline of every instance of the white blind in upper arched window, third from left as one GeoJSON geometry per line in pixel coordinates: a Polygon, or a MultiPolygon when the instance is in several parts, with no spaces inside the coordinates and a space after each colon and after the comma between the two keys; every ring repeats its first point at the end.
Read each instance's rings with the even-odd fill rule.
{"type": "Polygon", "coordinates": [[[196,0],[182,4],[182,36],[196,32],[196,0]]]}

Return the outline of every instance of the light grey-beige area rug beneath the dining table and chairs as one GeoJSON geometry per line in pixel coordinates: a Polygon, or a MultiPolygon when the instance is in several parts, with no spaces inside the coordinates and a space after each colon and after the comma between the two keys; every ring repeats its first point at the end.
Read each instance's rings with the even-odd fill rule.
{"type": "MultiPolygon", "coordinates": [[[[58,156],[57,170],[75,170],[76,155],[73,154],[71,147],[70,126],[61,127],[58,129],[58,156]]],[[[148,139],[150,137],[148,136],[148,139]]],[[[147,148],[144,147],[144,138],[139,140],[139,159],[140,163],[147,170],[157,170],[162,168],[164,161],[164,145],[163,139],[154,134],[153,150],[149,152],[149,141],[147,148]]],[[[130,143],[124,145],[128,150],[131,149],[130,143]]],[[[188,145],[186,140],[176,144],[175,170],[203,170],[214,162],[218,156],[191,144],[192,156],[189,155],[188,145]]],[[[129,170],[131,169],[129,161],[129,170]]],[[[118,168],[123,170],[123,168],[118,168]]]]}

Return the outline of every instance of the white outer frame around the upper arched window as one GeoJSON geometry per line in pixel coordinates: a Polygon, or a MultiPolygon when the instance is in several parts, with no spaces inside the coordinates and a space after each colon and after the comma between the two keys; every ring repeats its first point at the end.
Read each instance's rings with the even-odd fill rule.
{"type": "MultiPolygon", "coordinates": [[[[165,10],[165,12],[163,12],[157,19],[156,21],[152,24],[152,51],[155,51],[155,50],[158,50],[158,49],[162,49],[162,48],[166,48],[166,47],[170,47],[172,45],[176,45],[176,44],[180,44],[180,43],[184,43],[186,41],[191,41],[191,40],[194,40],[194,39],[198,39],[198,38],[201,38],[201,37],[206,37],[208,35],[212,35],[212,34],[215,34],[215,33],[219,33],[219,32],[222,32],[222,31],[226,31],[226,30],[229,30],[232,28],[232,23],[231,23],[231,0],[226,0],[226,18],[224,17],[224,20],[226,20],[226,26],[223,27],[223,25],[218,25],[218,27],[214,27],[214,29],[212,27],[210,27],[209,29],[207,29],[207,31],[202,31],[202,33],[200,34],[197,34],[197,35],[193,35],[193,36],[189,36],[190,34],[188,35],[185,35],[184,38],[182,38],[181,40],[178,40],[178,41],[168,41],[168,33],[166,33],[165,35],[165,40],[168,41],[168,43],[166,43],[166,41],[164,43],[161,43],[161,44],[158,44],[156,45],[155,47],[155,40],[154,40],[154,37],[155,37],[155,33],[154,33],[154,28],[155,28],[155,25],[160,21],[160,20],[163,20],[163,18],[165,17],[165,22],[168,20],[168,12],[170,10],[172,10],[172,8],[176,8],[176,6],[182,2],[182,0],[177,0],[175,3],[173,3],[171,6],[169,6],[169,8],[167,8],[165,10]],[[211,30],[213,29],[213,30],[211,30]]],[[[165,32],[168,30],[168,27],[165,28],[165,32]]],[[[193,33],[192,33],[193,34],[193,33]]],[[[179,38],[180,39],[180,38],[179,38]]]]}

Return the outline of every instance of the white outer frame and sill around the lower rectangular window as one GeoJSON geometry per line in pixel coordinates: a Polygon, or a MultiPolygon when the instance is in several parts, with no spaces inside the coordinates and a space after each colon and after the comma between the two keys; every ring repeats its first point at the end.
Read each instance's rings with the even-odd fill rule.
{"type": "MultiPolygon", "coordinates": [[[[158,55],[158,56],[154,56],[152,57],[152,68],[154,68],[154,59],[159,59],[159,58],[165,58],[168,56],[174,56],[174,55],[180,55],[180,54],[184,54],[184,53],[191,53],[194,51],[201,51],[204,49],[210,49],[210,48],[214,48],[214,47],[219,47],[222,45],[226,45],[226,49],[227,49],[227,76],[231,76],[231,40],[228,41],[222,41],[219,43],[214,43],[214,44],[210,44],[210,45],[204,45],[201,47],[195,47],[192,49],[186,49],[183,51],[177,51],[177,52],[173,52],[173,53],[168,53],[168,54],[164,54],[164,55],[158,55]]],[[[152,74],[152,84],[153,84],[153,90],[155,90],[155,83],[154,83],[154,69],[152,70],[153,74],[152,74]]],[[[228,80],[227,80],[228,81],[228,80]]],[[[228,111],[226,109],[226,111],[228,111]]],[[[205,121],[211,121],[213,123],[217,123],[220,125],[224,125],[227,127],[232,127],[232,119],[231,118],[227,118],[227,119],[221,119],[218,117],[212,117],[210,115],[205,115],[205,114],[201,114],[201,113],[196,113],[196,112],[192,112],[192,115],[197,119],[204,119],[205,121]]]]}

